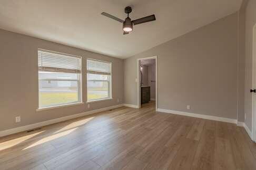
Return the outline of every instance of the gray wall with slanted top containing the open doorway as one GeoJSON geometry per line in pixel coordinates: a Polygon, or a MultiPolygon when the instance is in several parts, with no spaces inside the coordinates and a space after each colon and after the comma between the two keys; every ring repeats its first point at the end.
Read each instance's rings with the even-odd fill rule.
{"type": "Polygon", "coordinates": [[[238,13],[125,59],[125,103],[137,104],[136,59],[152,56],[158,108],[237,119],[238,13]]]}

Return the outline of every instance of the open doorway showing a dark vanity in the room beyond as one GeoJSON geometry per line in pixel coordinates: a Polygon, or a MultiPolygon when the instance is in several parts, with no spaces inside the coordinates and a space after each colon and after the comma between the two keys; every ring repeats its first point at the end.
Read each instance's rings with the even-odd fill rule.
{"type": "Polygon", "coordinates": [[[137,105],[157,111],[157,56],[137,60],[137,105]]]}

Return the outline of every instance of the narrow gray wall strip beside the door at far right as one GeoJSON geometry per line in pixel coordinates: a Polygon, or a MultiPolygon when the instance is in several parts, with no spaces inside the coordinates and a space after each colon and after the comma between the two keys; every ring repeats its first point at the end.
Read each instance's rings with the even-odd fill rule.
{"type": "MultiPolygon", "coordinates": [[[[245,87],[244,87],[244,113],[247,119],[245,124],[252,129],[252,40],[253,26],[256,24],[256,1],[249,0],[245,11],[245,87]]],[[[254,87],[255,88],[255,87],[254,87]]]]}

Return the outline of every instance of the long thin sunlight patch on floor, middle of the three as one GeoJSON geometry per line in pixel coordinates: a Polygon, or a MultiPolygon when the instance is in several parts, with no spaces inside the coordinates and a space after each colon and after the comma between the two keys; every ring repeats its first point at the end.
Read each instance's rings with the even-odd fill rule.
{"type": "Polygon", "coordinates": [[[62,136],[65,136],[67,134],[70,134],[72,133],[73,131],[75,131],[78,127],[75,127],[74,129],[70,129],[70,130],[67,130],[67,131],[63,131],[63,132],[60,132],[60,133],[56,133],[56,134],[53,134],[53,135],[50,135],[50,136],[47,136],[47,137],[44,137],[43,139],[33,143],[32,145],[29,145],[27,146],[26,148],[24,148],[23,150],[26,150],[28,148],[31,148],[31,147],[34,147],[34,146],[37,146],[37,145],[40,145],[40,144],[43,144],[43,143],[46,143],[46,142],[50,142],[52,140],[55,140],[55,139],[58,139],[59,137],[62,137],[62,136]]]}

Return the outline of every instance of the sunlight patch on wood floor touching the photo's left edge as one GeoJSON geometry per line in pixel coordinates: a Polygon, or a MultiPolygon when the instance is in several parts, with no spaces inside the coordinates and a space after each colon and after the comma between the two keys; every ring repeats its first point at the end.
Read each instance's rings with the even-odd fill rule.
{"type": "Polygon", "coordinates": [[[40,134],[40,133],[42,133],[42,132],[45,132],[45,131],[29,134],[29,135],[26,135],[26,136],[18,137],[18,138],[13,139],[13,140],[2,142],[2,143],[0,143],[0,151],[5,150],[6,148],[9,148],[9,147],[15,146],[19,143],[22,143],[22,142],[40,134]]]}

